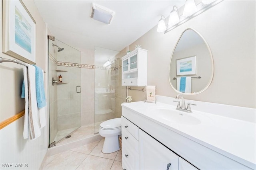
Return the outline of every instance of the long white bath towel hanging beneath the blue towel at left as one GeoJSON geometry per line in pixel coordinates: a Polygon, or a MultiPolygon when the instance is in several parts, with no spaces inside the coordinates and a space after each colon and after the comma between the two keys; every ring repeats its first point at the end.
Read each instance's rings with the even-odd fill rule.
{"type": "Polygon", "coordinates": [[[38,123],[38,107],[36,102],[36,70],[28,64],[23,67],[24,87],[25,87],[25,119],[24,119],[24,139],[36,139],[40,137],[41,131],[38,123]]]}

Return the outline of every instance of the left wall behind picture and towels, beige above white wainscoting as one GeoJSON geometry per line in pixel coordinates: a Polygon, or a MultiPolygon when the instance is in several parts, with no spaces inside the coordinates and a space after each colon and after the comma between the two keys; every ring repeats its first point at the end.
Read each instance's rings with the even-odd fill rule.
{"type": "MultiPolygon", "coordinates": [[[[36,65],[46,70],[46,26],[34,1],[23,0],[26,8],[36,21],[36,65]]],[[[2,9],[2,0],[0,0],[2,9]]],[[[2,53],[2,10],[0,13],[0,55],[3,58],[14,59],[2,53]]],[[[20,98],[23,66],[15,63],[0,64],[0,122],[24,110],[24,99],[20,98]]],[[[46,75],[45,75],[46,78],[46,75]]],[[[46,89],[46,81],[45,81],[46,89]]],[[[48,95],[46,93],[46,95],[48,95]]],[[[46,108],[47,111],[47,108],[46,108]]],[[[48,118],[46,117],[48,120],[48,118]]],[[[24,117],[14,121],[0,130],[0,169],[3,163],[24,163],[28,168],[39,169],[48,147],[47,126],[36,140],[23,139],[24,117]]],[[[13,168],[6,168],[13,169],[13,168]]],[[[18,169],[18,168],[16,168],[18,169]]]]}

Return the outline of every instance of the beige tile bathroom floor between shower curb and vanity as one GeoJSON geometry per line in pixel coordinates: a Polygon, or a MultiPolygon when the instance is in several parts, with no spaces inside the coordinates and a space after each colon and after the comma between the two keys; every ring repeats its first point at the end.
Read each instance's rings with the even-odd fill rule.
{"type": "Polygon", "coordinates": [[[43,170],[122,170],[121,150],[104,154],[104,139],[53,156],[48,156],[43,170]]]}

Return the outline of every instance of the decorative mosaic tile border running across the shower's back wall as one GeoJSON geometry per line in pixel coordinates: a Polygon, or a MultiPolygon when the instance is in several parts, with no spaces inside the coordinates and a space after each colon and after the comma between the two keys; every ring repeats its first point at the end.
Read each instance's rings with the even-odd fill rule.
{"type": "MultiPolygon", "coordinates": [[[[108,70],[108,67],[104,66],[95,66],[95,65],[90,65],[90,64],[79,64],[79,63],[68,63],[68,62],[62,62],[62,61],[57,61],[56,63],[58,66],[67,66],[67,67],[78,67],[78,68],[90,68],[90,69],[99,69],[99,70],[108,70]]],[[[111,67],[110,70],[119,70],[121,69],[122,66],[117,66],[117,67],[111,67]]]]}

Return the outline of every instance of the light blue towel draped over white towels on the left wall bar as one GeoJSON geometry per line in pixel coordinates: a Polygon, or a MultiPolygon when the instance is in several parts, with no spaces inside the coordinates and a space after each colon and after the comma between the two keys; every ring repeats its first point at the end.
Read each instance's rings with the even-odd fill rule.
{"type": "Polygon", "coordinates": [[[36,68],[36,101],[37,107],[40,109],[46,106],[46,98],[44,93],[44,75],[43,70],[33,65],[36,68]]]}

